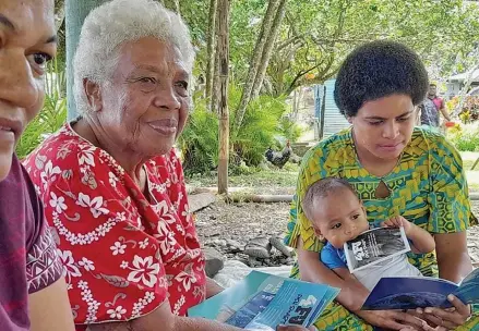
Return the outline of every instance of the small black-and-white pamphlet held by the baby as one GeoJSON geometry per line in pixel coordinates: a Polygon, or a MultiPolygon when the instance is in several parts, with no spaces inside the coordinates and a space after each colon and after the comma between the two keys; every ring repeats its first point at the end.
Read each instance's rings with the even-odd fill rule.
{"type": "Polygon", "coordinates": [[[345,243],[344,248],[349,272],[355,273],[409,252],[410,245],[403,228],[376,228],[345,243]]]}

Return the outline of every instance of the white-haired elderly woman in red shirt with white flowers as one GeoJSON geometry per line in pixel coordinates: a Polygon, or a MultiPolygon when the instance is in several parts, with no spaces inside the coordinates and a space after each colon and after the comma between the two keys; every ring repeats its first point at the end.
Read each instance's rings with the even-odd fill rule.
{"type": "Polygon", "coordinates": [[[193,58],[184,23],[153,0],[115,0],[84,22],[73,63],[81,117],[25,161],[77,330],[237,330],[184,317],[223,290],[206,279],[172,149],[193,58]]]}

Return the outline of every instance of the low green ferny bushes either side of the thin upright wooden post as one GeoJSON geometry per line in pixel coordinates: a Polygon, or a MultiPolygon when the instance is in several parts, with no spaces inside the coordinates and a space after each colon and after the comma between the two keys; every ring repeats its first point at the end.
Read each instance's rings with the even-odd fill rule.
{"type": "MultiPolygon", "coordinates": [[[[241,97],[241,90],[231,84],[228,107],[231,111],[231,130],[235,109],[241,97]]],[[[218,119],[207,110],[204,99],[195,98],[194,111],[179,138],[183,155],[184,171],[208,173],[218,163],[218,119]]],[[[300,128],[284,119],[285,98],[260,96],[247,109],[243,123],[237,134],[230,134],[230,172],[252,173],[264,159],[270,146],[276,146],[276,137],[283,136],[295,142],[300,128]]]]}

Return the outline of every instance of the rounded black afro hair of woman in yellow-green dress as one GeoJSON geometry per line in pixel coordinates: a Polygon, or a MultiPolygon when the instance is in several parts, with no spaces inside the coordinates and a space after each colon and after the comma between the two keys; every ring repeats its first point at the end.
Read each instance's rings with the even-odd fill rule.
{"type": "Polygon", "coordinates": [[[419,56],[388,40],[364,44],[343,62],[336,77],[334,100],[345,117],[356,117],[367,101],[404,94],[417,106],[429,89],[428,72],[419,56]]]}

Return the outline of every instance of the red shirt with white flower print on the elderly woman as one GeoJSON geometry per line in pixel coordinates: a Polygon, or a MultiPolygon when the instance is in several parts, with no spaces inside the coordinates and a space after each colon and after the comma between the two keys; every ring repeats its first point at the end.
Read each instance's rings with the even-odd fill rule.
{"type": "Polygon", "coordinates": [[[75,323],[134,319],[167,298],[185,315],[205,298],[204,257],[173,150],[144,166],[149,197],[69,124],[25,167],[56,230],[75,323]]]}

